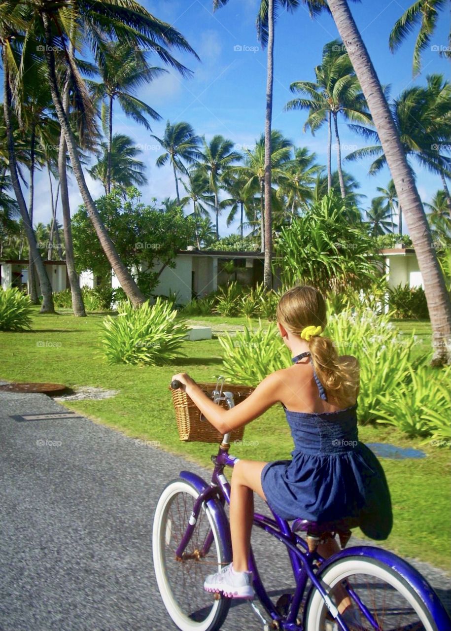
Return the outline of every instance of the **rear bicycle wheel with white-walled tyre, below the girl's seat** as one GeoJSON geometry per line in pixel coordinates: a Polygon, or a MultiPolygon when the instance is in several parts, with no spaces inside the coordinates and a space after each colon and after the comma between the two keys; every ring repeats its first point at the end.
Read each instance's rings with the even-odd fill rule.
{"type": "MultiPolygon", "coordinates": [[[[359,629],[373,630],[370,622],[373,620],[380,631],[442,631],[436,627],[431,612],[413,587],[385,563],[371,558],[346,557],[332,563],[324,573],[320,572],[319,578],[336,605],[343,598],[343,587],[348,591],[359,629]]],[[[308,631],[334,628],[317,589],[313,589],[306,611],[308,631]]]]}

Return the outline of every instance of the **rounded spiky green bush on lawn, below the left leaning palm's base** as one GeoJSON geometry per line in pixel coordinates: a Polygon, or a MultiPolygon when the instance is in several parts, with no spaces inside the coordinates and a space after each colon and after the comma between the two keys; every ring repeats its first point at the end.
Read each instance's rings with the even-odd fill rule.
{"type": "Polygon", "coordinates": [[[175,322],[177,311],[170,302],[156,298],[154,305],[145,302],[134,309],[130,302],[122,302],[119,315],[102,322],[101,341],[109,363],[166,362],[180,353],[180,345],[187,334],[184,322],[175,322]]]}

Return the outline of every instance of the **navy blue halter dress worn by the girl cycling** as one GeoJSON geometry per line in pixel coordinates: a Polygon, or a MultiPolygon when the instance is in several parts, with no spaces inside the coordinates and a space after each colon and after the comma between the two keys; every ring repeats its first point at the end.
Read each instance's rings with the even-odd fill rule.
{"type": "MultiPolygon", "coordinates": [[[[320,398],[327,400],[314,369],[313,377],[320,398]]],[[[358,440],[357,404],[336,412],[284,410],[295,449],[291,460],[267,463],[262,470],[271,509],[283,519],[356,519],[367,536],[386,539],[392,529],[389,487],[377,457],[358,440]]]]}

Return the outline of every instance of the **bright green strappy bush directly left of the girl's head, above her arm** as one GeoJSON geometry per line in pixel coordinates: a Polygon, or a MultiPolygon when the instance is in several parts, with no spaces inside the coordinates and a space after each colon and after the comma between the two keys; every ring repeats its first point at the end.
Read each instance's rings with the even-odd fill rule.
{"type": "Polygon", "coordinates": [[[284,345],[276,324],[272,322],[243,331],[231,337],[220,336],[223,348],[221,374],[246,386],[257,386],[274,370],[290,365],[290,351],[284,345]]]}

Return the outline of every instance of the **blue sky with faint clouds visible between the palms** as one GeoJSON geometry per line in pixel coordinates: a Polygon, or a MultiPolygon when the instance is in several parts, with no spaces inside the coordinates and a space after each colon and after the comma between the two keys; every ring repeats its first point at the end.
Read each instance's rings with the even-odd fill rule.
{"type": "MultiPolygon", "coordinates": [[[[388,48],[389,33],[402,12],[413,0],[378,0],[361,4],[350,3],[351,11],[365,40],[373,64],[383,84],[391,85],[392,98],[412,85],[422,85],[430,73],[442,73],[450,78],[450,62],[434,50],[423,55],[422,73],[413,78],[412,55],[414,37],[391,54],[388,48]]],[[[198,62],[186,54],[176,55],[194,73],[184,79],[175,71],[158,78],[139,91],[138,97],[161,115],[162,121],[151,124],[156,136],[163,135],[167,120],[187,121],[198,134],[210,139],[214,134],[230,138],[237,148],[254,145],[264,129],[266,90],[266,50],[261,48],[255,32],[255,16],[259,0],[229,0],[225,8],[213,13],[211,0],[142,0],[142,4],[161,20],[168,21],[180,30],[201,58],[198,62]],[[242,50],[237,50],[242,47],[242,50]]],[[[432,45],[447,45],[449,15],[444,12],[432,45]]],[[[338,37],[331,16],[322,15],[311,20],[305,7],[295,13],[281,13],[276,23],[274,60],[273,128],[279,129],[296,146],[307,146],[317,154],[317,162],[326,163],[327,130],[315,136],[303,133],[306,114],[284,112],[285,103],[293,98],[290,83],[296,80],[315,79],[313,69],[320,63],[324,44],[338,37]]],[[[152,62],[160,62],[155,56],[152,62]]],[[[340,121],[342,154],[346,155],[365,141],[349,131],[340,121]],[[348,147],[348,149],[346,148],[348,147]]],[[[157,168],[155,160],[161,151],[158,143],[143,127],[127,119],[115,105],[114,132],[126,133],[143,149],[141,160],[146,164],[149,184],[143,187],[143,201],[175,197],[173,174],[170,167],[157,168]]],[[[332,156],[332,161],[335,155],[332,156]]],[[[332,162],[334,165],[334,162],[332,162]]],[[[370,206],[377,194],[376,187],[385,187],[390,179],[387,169],[377,176],[368,175],[370,160],[344,164],[344,167],[361,184],[367,196],[364,205],[370,206]]],[[[423,201],[430,201],[441,187],[440,178],[415,164],[418,190],[423,201]]],[[[103,194],[102,186],[88,176],[91,193],[96,198],[103,194]]],[[[35,221],[47,223],[50,219],[49,184],[46,174],[38,174],[35,221]]],[[[70,189],[72,212],[81,203],[76,183],[70,189]]],[[[61,221],[61,211],[59,212],[61,221]]],[[[220,220],[220,233],[234,232],[236,225],[226,227],[225,216],[220,220]]]]}

